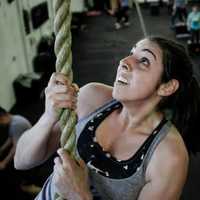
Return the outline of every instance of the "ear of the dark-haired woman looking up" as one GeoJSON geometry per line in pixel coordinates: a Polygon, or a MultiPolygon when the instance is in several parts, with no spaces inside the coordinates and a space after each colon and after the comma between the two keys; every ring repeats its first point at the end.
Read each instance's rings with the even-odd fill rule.
{"type": "Polygon", "coordinates": [[[159,88],[157,94],[159,96],[170,96],[176,92],[179,88],[179,82],[176,79],[171,79],[167,83],[162,83],[159,88]]]}

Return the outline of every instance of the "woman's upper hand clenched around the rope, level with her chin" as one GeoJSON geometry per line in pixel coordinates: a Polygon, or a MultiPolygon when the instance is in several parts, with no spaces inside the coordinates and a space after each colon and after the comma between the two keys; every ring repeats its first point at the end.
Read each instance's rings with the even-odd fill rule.
{"type": "Polygon", "coordinates": [[[76,110],[78,86],[71,84],[67,77],[55,72],[45,89],[45,115],[53,121],[58,120],[58,109],[76,110]]]}

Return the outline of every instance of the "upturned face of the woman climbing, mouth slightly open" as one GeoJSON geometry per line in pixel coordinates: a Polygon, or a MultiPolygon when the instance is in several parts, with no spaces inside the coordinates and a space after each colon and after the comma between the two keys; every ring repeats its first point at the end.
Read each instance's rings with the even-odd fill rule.
{"type": "Polygon", "coordinates": [[[119,101],[145,100],[157,94],[163,72],[162,51],[144,39],[119,63],[113,98],[119,101]]]}

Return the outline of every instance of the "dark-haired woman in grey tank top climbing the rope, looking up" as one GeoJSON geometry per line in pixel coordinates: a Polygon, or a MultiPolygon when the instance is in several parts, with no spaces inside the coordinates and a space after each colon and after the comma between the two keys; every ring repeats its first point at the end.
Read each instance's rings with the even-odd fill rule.
{"type": "Polygon", "coordinates": [[[68,200],[96,193],[103,200],[179,199],[188,170],[183,138],[190,148],[199,94],[185,49],[164,38],[145,38],[120,61],[113,87],[87,84],[77,98],[74,85],[53,74],[46,110],[21,137],[15,166],[30,168],[49,158],[59,148],[56,109],[76,109],[82,160],[59,149],[54,173],[37,200],[53,199],[55,192],[68,200]]]}

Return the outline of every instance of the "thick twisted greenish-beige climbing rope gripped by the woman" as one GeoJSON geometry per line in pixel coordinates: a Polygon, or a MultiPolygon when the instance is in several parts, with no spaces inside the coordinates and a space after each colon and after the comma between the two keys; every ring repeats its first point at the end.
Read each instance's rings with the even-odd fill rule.
{"type": "MultiPolygon", "coordinates": [[[[54,0],[54,33],[56,36],[54,51],[56,54],[56,71],[67,76],[73,81],[72,52],[71,52],[71,0],[54,0]]],[[[62,130],[61,147],[67,150],[75,158],[75,125],[77,115],[73,110],[64,109],[60,112],[60,126],[62,130]]],[[[56,200],[62,200],[58,194],[56,200]]]]}

